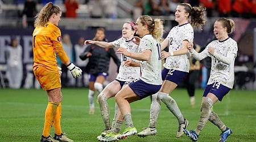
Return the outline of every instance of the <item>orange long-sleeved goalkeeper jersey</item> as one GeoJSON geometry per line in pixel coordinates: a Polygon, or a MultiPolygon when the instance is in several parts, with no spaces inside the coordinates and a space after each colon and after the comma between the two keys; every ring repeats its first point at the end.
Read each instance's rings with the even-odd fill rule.
{"type": "Polygon", "coordinates": [[[56,54],[61,62],[68,62],[68,56],[64,52],[61,44],[60,29],[52,23],[47,23],[44,27],[36,27],[33,32],[33,70],[37,66],[43,66],[49,72],[57,72],[56,54]]]}

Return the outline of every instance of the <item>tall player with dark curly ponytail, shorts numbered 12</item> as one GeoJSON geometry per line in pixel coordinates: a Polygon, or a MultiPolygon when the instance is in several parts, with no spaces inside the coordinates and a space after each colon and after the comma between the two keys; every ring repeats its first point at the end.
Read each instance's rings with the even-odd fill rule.
{"type": "Polygon", "coordinates": [[[176,89],[178,83],[189,72],[187,43],[193,41],[193,28],[201,28],[204,25],[204,11],[204,7],[191,7],[188,3],[180,3],[176,7],[175,20],[179,24],[171,29],[166,39],[161,43],[161,58],[166,58],[166,62],[163,64],[164,69],[162,70],[163,85],[158,93],[152,95],[150,123],[147,128],[138,133],[138,136],[144,137],[156,134],[155,126],[161,108],[161,101],[177,118],[179,123],[177,138],[183,135],[183,128],[188,126],[188,120],[183,117],[170,93],[176,89]],[[190,22],[189,18],[191,19],[190,22]],[[166,47],[169,47],[169,52],[163,51],[166,47]]]}

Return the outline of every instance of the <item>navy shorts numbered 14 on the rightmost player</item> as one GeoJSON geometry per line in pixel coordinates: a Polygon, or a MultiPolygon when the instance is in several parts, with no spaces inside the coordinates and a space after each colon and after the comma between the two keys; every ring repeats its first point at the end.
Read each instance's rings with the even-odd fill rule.
{"type": "Polygon", "coordinates": [[[221,83],[214,82],[205,86],[203,97],[207,97],[208,93],[216,95],[218,101],[222,101],[222,98],[230,91],[229,87],[222,85],[221,83]]]}

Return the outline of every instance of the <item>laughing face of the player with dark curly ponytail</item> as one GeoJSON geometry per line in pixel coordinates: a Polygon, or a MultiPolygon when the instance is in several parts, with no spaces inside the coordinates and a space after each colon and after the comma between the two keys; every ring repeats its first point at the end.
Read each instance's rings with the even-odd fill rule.
{"type": "Polygon", "coordinates": [[[185,11],[185,7],[182,5],[177,6],[176,12],[175,12],[175,20],[179,24],[186,23],[188,20],[188,12],[185,11]]]}

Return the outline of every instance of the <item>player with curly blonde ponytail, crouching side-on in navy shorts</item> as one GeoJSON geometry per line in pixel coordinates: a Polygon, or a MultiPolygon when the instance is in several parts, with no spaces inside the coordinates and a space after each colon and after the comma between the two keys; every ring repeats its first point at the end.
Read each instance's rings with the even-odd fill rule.
{"type": "Polygon", "coordinates": [[[117,102],[126,126],[123,133],[117,136],[117,139],[126,139],[127,136],[137,133],[131,119],[130,103],[155,94],[162,85],[159,42],[163,36],[163,22],[160,19],[152,19],[150,16],[144,15],[137,19],[136,28],[136,34],[142,37],[139,42],[138,53],[129,52],[123,47],[117,50],[117,53],[139,60],[139,62],[127,60],[125,61],[126,66],[141,66],[139,80],[123,86],[115,95],[115,102],[117,102]]]}

